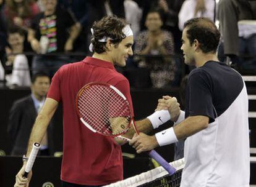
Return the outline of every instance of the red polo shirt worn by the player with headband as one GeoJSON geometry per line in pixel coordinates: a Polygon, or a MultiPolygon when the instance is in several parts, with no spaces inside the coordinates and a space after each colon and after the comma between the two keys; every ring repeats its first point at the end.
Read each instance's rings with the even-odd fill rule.
{"type": "Polygon", "coordinates": [[[48,96],[63,105],[61,180],[79,185],[106,185],[122,180],[121,147],[113,138],[93,133],[75,110],[77,92],[90,82],[106,82],[124,94],[132,106],[128,80],[113,64],[87,57],[62,66],[54,75],[48,96]]]}

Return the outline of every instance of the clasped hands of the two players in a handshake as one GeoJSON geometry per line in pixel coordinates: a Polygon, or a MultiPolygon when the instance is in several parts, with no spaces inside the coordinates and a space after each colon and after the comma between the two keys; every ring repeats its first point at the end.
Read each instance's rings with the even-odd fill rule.
{"type": "Polygon", "coordinates": [[[168,95],[163,96],[162,99],[158,100],[157,110],[168,109],[169,114],[171,115],[171,121],[176,122],[181,113],[181,108],[179,108],[179,103],[177,102],[176,97],[170,97],[168,95]]]}

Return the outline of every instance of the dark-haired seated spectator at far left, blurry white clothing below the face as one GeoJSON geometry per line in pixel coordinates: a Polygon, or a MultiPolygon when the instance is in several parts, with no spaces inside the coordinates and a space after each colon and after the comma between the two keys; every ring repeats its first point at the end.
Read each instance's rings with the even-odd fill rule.
{"type": "Polygon", "coordinates": [[[6,74],[6,84],[9,87],[30,86],[30,71],[28,59],[23,55],[25,34],[19,28],[11,28],[8,33],[9,47],[6,47],[6,66],[11,67],[11,73],[6,74]]]}

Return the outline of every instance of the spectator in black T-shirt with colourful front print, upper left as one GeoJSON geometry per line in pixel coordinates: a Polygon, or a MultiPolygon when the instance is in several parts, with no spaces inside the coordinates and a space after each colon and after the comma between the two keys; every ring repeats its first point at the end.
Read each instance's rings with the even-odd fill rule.
{"type": "MultiPolygon", "coordinates": [[[[74,49],[74,41],[79,35],[80,27],[72,16],[57,6],[57,0],[43,0],[45,12],[34,18],[32,29],[28,32],[28,41],[37,54],[53,54],[68,52],[74,49]]],[[[67,56],[42,56],[33,58],[33,73],[41,70],[48,71],[52,77],[60,66],[70,60],[67,56]]]]}

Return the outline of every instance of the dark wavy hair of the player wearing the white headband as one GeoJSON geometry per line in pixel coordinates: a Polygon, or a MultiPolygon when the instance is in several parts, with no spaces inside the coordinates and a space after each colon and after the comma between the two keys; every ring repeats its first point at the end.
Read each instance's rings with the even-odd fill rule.
{"type": "Polygon", "coordinates": [[[98,22],[94,22],[93,36],[91,42],[93,44],[93,51],[101,54],[106,51],[106,42],[99,42],[99,39],[104,37],[111,38],[113,44],[119,44],[122,39],[126,38],[126,35],[122,32],[124,26],[128,23],[123,18],[118,18],[115,15],[105,16],[98,22]]]}

